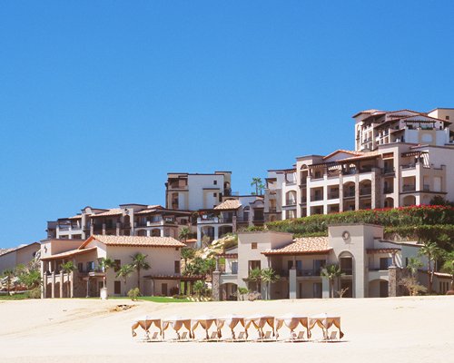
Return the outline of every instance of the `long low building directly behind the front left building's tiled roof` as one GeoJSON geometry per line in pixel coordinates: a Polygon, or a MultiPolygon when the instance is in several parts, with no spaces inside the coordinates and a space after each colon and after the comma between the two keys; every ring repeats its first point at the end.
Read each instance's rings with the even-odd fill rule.
{"type": "Polygon", "coordinates": [[[85,240],[94,234],[178,238],[190,218],[189,211],[160,205],[121,204],[107,210],[85,207],[74,217],[47,222],[47,238],[85,240]]]}

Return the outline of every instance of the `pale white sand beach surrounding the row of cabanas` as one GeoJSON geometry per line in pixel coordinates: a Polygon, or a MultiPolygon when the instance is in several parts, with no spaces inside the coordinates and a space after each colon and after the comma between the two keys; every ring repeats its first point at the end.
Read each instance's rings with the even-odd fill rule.
{"type": "MultiPolygon", "coordinates": [[[[0,301],[2,362],[448,362],[454,352],[454,297],[299,299],[155,304],[131,300],[0,301]],[[133,309],[113,312],[118,304],[133,309]],[[288,312],[341,316],[345,342],[142,343],[131,322],[148,314],[223,316],[288,312]]],[[[167,330],[170,332],[170,330],[167,330]]],[[[315,334],[316,336],[319,333],[315,334]]],[[[202,338],[202,330],[198,336],[202,338]]],[[[225,331],[224,335],[228,335],[225,331]]],[[[169,338],[173,334],[168,334],[169,338]]],[[[281,330],[287,337],[288,330],[281,330]]]]}

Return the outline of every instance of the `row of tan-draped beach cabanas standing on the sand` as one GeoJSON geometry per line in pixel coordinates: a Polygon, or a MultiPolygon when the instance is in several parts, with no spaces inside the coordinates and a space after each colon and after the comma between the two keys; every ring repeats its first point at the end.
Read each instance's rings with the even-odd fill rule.
{"type": "MultiPolygon", "coordinates": [[[[229,315],[222,318],[202,316],[194,319],[185,319],[181,317],[160,319],[144,316],[133,321],[133,337],[137,336],[135,330],[139,328],[144,331],[143,341],[335,342],[340,341],[344,336],[341,331],[341,318],[327,314],[310,317],[298,314],[287,314],[278,318],[269,315],[255,315],[252,317],[229,315]],[[284,326],[290,330],[288,337],[280,337],[280,329],[284,326]],[[224,327],[230,329],[230,337],[222,337],[222,328],[224,327]],[[316,327],[321,329],[322,338],[312,338],[311,330],[316,327]],[[151,333],[151,329],[156,331],[151,333]],[[166,340],[165,331],[167,329],[173,330],[176,334],[176,338],[166,340]],[[196,336],[197,329],[203,331],[202,337],[196,336]],[[254,338],[250,337],[249,332],[251,329],[256,331],[254,338]],[[210,332],[210,330],[212,331],[210,332]]],[[[201,335],[200,332],[197,334],[201,335]]]]}

